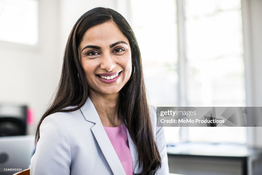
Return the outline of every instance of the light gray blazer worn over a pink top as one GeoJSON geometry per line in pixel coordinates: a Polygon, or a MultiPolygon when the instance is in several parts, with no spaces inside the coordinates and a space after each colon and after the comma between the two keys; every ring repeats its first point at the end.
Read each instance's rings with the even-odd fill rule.
{"type": "MultiPolygon", "coordinates": [[[[150,106],[155,140],[162,159],[158,175],[169,174],[163,127],[156,127],[156,109],[150,106]]],[[[138,152],[127,130],[129,149],[135,173],[138,152]]],[[[30,162],[31,175],[124,175],[124,168],[101,123],[94,104],[73,112],[47,116],[40,126],[40,139],[30,162]]]]}

